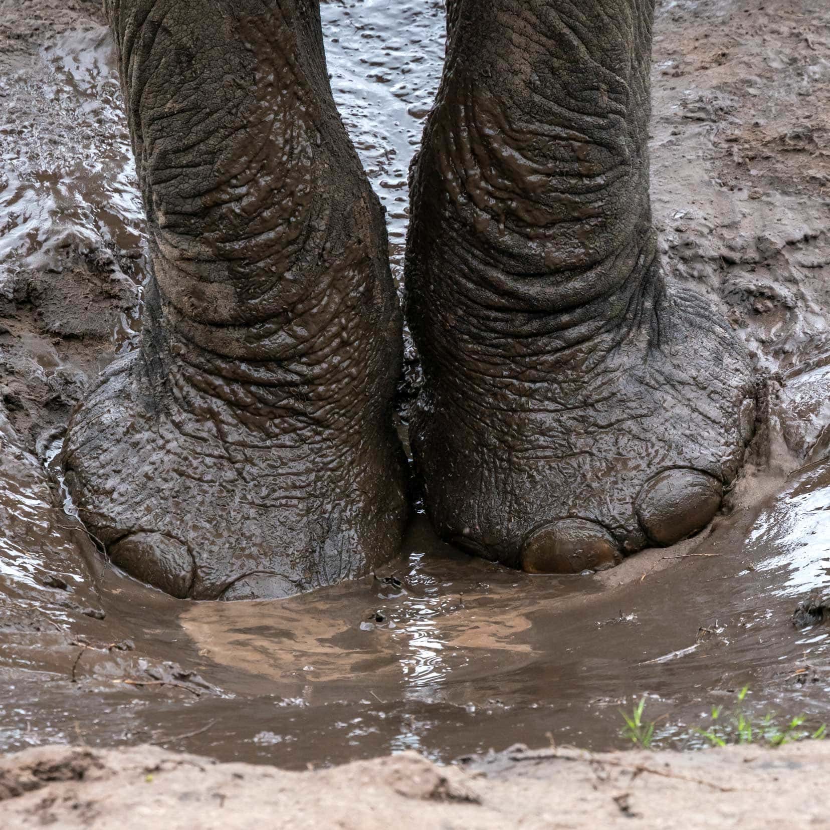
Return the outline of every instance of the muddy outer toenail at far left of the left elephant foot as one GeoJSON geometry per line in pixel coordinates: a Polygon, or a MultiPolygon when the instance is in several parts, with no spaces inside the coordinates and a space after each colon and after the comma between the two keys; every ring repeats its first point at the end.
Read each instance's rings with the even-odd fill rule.
{"type": "Polygon", "coordinates": [[[135,579],[185,599],[193,585],[193,557],[187,546],[163,533],[134,533],[113,544],[107,553],[135,579]]]}

